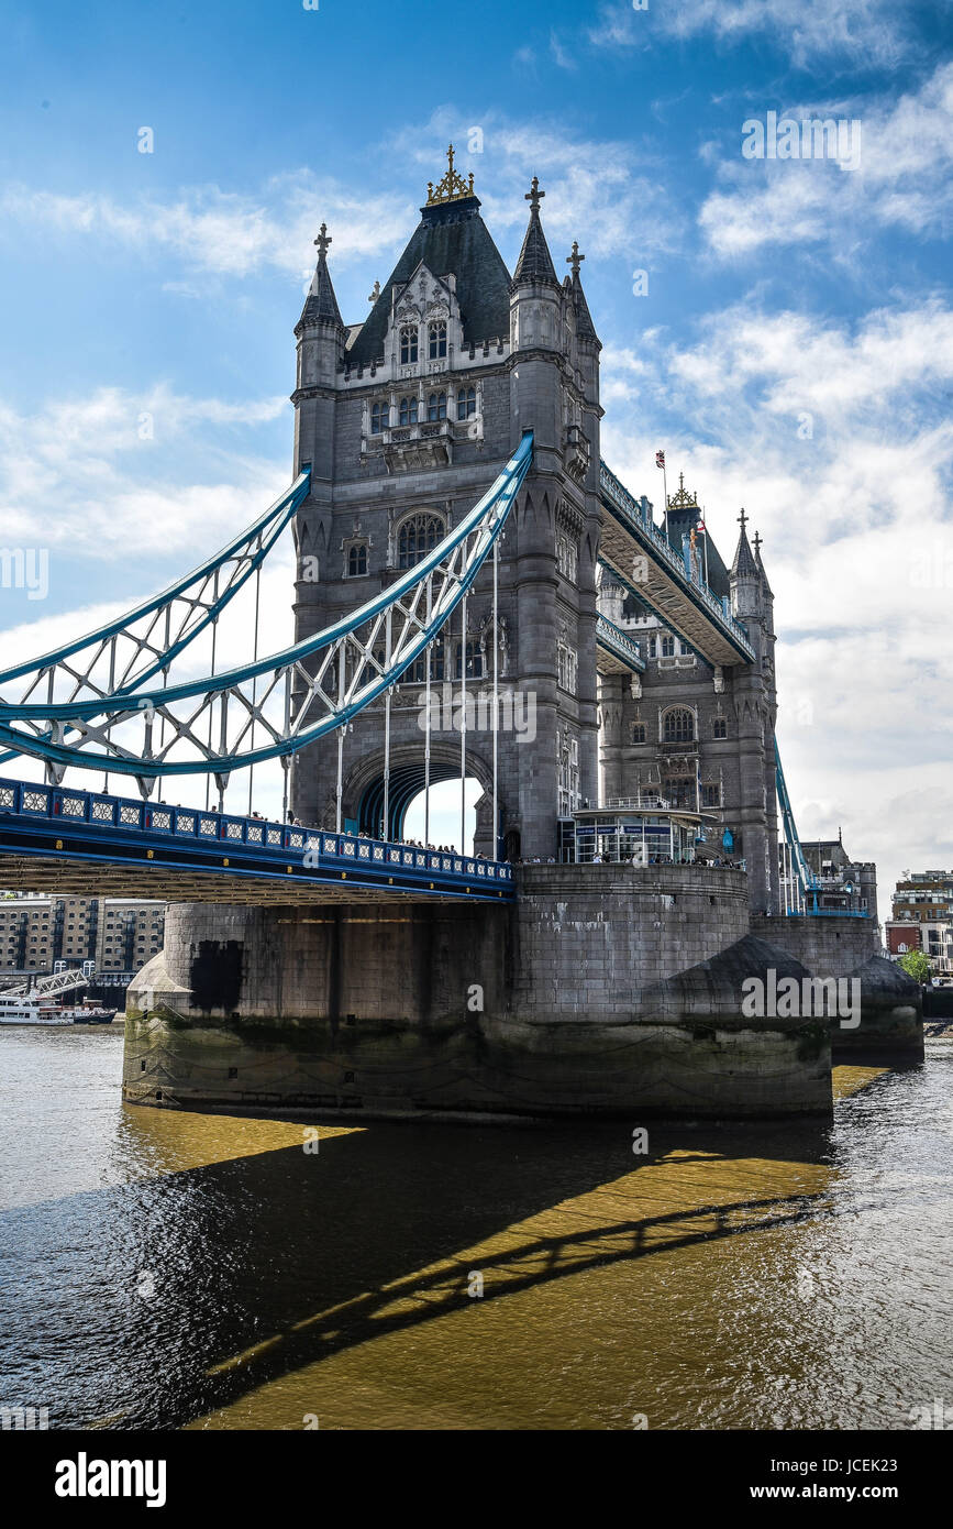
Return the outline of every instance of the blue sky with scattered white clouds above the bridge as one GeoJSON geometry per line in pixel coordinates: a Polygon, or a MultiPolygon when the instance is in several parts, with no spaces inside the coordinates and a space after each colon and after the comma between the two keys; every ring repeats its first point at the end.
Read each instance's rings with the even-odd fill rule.
{"type": "Polygon", "coordinates": [[[881,884],[953,864],[944,14],[0,6],[0,546],[50,557],[43,602],[0,590],[5,653],[150,593],[281,491],[318,225],[356,321],[452,138],[510,268],[535,173],[557,265],[579,239],[629,488],[660,500],[664,446],[722,550],[739,505],[759,526],[805,836],[842,824],[881,884]],[[858,165],[744,159],[768,112],[860,121],[858,165]]]}

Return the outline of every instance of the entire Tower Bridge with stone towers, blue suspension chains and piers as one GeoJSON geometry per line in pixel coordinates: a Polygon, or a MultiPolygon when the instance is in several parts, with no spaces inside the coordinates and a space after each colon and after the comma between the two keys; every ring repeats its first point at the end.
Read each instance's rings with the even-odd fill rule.
{"type": "Polygon", "coordinates": [[[574,245],[557,275],[544,196],[533,179],[510,275],[451,157],[351,324],[322,225],[295,327],[290,489],[163,595],[0,667],[0,885],[174,902],[130,989],[130,1099],[829,1107],[825,1043],[780,1021],[753,1037],[739,1015],[742,974],[875,953],[869,919],[812,920],[783,890],[806,872],[761,541],[742,511],[728,566],[707,529],[696,544],[684,486],[658,524],[602,460],[583,257],[574,245]],[[284,526],[293,642],[261,656],[249,621],[254,653],[221,667],[218,624],[284,526]],[[44,783],[15,778],[20,757],[44,783]],[[229,780],[276,760],[281,820],[225,812],[229,780]],[[79,771],[102,790],[76,789],[79,771]],[[137,800],[110,792],[116,775],[137,800]],[[208,781],[205,810],[162,800],[188,775],[208,781]],[[457,846],[405,842],[417,797],[431,838],[447,780],[457,846]],[[602,832],[600,804],[620,801],[602,832]],[[638,864],[635,842],[661,852],[638,864]]]}

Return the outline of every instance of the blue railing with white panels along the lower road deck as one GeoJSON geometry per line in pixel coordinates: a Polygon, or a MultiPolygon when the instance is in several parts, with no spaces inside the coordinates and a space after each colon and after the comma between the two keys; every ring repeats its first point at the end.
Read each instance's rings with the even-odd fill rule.
{"type": "MultiPolygon", "coordinates": [[[[273,823],[267,818],[244,818],[202,807],[177,807],[168,803],[136,801],[127,797],[72,790],[67,786],[44,786],[32,781],[0,780],[0,855],[17,853],[8,832],[11,818],[20,820],[18,830],[31,824],[49,826],[44,842],[31,842],[31,853],[82,855],[89,847],[99,861],[110,859],[110,847],[125,849],[141,844],[144,861],[153,861],[156,850],[166,864],[192,864],[197,868],[229,868],[234,873],[301,876],[318,879],[368,879],[379,885],[420,887],[423,890],[454,890],[463,894],[512,894],[513,867],[504,861],[481,859],[476,855],[444,853],[412,844],[371,839],[356,833],[333,833],[296,823],[273,823]],[[72,844],[67,846],[72,835],[72,844]],[[90,836],[90,829],[93,830],[90,836]],[[52,850],[46,838],[60,835],[52,850]],[[102,835],[101,842],[95,842],[102,835]],[[78,847],[78,838],[82,847],[78,847]],[[154,846],[154,849],[150,849],[154,846]],[[192,852],[186,861],[176,850],[192,852]],[[221,855],[221,852],[229,852],[221,855]],[[194,852],[200,852],[195,858],[194,852]],[[205,853],[203,853],[205,852],[205,853]],[[232,864],[238,856],[238,864],[232,864]]],[[[128,862],[128,853],[122,855],[128,862]]],[[[159,862],[162,864],[162,862],[159,862]]],[[[2,859],[0,859],[2,867],[2,859]]],[[[0,870],[0,882],[2,882],[0,870]]],[[[145,894],[145,893],[144,893],[145,894]]]]}

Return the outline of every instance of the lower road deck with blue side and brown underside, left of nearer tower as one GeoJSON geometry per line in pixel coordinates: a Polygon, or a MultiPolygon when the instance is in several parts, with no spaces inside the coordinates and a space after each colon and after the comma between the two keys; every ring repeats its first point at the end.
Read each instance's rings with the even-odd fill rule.
{"type": "Polygon", "coordinates": [[[0,780],[0,885],[254,905],[515,896],[501,861],[14,780],[0,780]]]}

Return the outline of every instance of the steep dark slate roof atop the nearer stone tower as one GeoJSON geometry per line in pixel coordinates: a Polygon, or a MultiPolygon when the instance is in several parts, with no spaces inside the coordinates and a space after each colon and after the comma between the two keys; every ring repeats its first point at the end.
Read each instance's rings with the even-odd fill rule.
{"type": "Polygon", "coordinates": [[[351,364],[383,358],[391,287],[405,286],[422,261],[435,277],[451,272],[457,277],[457,301],[467,342],[506,339],[510,332],[510,274],[480,217],[480,197],[422,206],[420,214],[420,223],[348,350],[351,364]]]}

